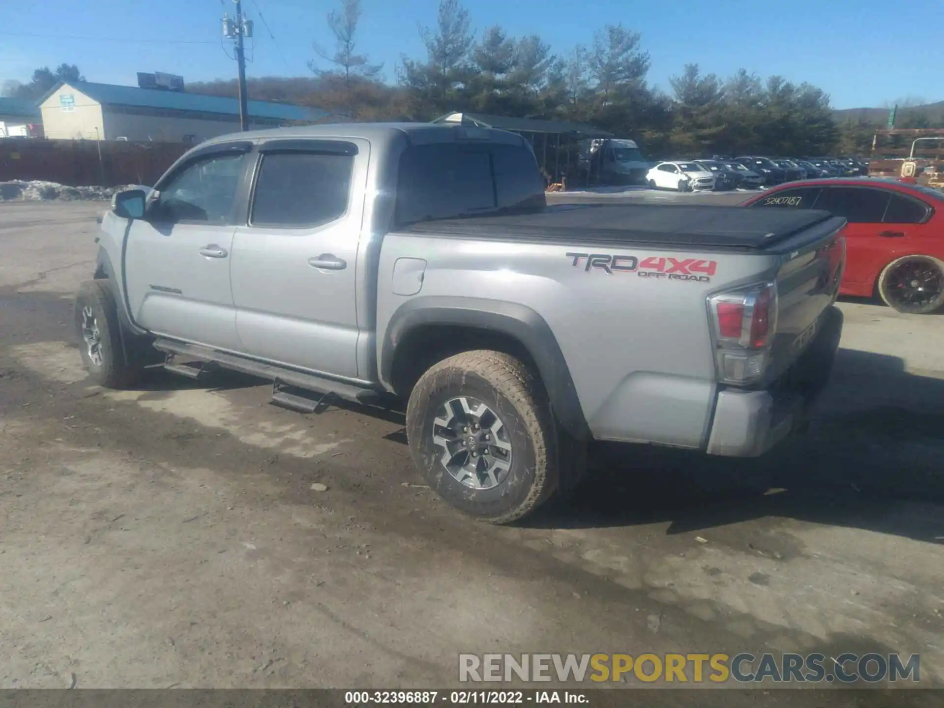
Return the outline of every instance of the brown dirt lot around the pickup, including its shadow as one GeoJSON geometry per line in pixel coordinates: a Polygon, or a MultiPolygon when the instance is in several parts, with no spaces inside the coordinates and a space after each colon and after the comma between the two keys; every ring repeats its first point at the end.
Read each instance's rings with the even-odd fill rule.
{"type": "Polygon", "coordinates": [[[944,683],[944,316],[842,303],[805,436],[600,447],[497,528],[421,486],[396,413],[86,383],[104,208],[0,205],[0,687],[448,686],[463,651],[920,652],[944,683]]]}

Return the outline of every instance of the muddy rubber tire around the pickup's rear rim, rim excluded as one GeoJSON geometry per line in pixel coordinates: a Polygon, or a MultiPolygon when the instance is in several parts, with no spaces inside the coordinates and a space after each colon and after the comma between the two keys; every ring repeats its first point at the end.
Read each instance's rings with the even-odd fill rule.
{"type": "Polygon", "coordinates": [[[581,446],[558,430],[540,380],[523,362],[497,351],[466,351],[438,362],[420,377],[407,405],[407,437],[413,464],[430,488],[465,514],[493,524],[525,517],[578,478],[581,446]],[[477,490],[456,480],[432,442],[433,419],[456,396],[491,408],[509,430],[512,461],[497,486],[477,490]],[[562,478],[564,483],[562,484],[562,478]]]}

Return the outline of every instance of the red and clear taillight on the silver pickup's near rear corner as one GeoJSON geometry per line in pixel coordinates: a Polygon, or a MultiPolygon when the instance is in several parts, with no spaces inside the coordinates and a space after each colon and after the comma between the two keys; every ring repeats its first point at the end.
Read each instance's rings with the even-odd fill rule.
{"type": "Polygon", "coordinates": [[[777,286],[768,282],[708,298],[718,379],[747,385],[764,377],[777,329],[777,286]]]}

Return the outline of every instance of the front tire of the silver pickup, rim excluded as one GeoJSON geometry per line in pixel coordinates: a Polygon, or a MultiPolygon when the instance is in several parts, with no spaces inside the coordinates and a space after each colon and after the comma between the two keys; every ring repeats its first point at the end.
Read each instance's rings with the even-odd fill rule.
{"type": "Polygon", "coordinates": [[[122,347],[121,324],[118,321],[118,308],[111,293],[108,280],[86,280],[76,294],[76,335],[78,349],[82,355],[82,364],[89,372],[89,378],[99,386],[122,389],[130,386],[141,374],[142,358],[129,352],[126,361],[122,347]],[[101,362],[93,362],[89,347],[82,334],[82,312],[91,308],[100,335],[101,362]]]}

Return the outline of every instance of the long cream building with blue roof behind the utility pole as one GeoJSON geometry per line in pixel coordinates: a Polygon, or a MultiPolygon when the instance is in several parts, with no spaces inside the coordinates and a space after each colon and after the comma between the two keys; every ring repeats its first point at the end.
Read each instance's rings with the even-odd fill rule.
{"type": "MultiPolygon", "coordinates": [[[[60,82],[39,102],[45,137],[200,143],[239,131],[235,98],[88,81],[60,82]]],[[[250,128],[308,124],[324,110],[249,101],[250,128]]]]}

